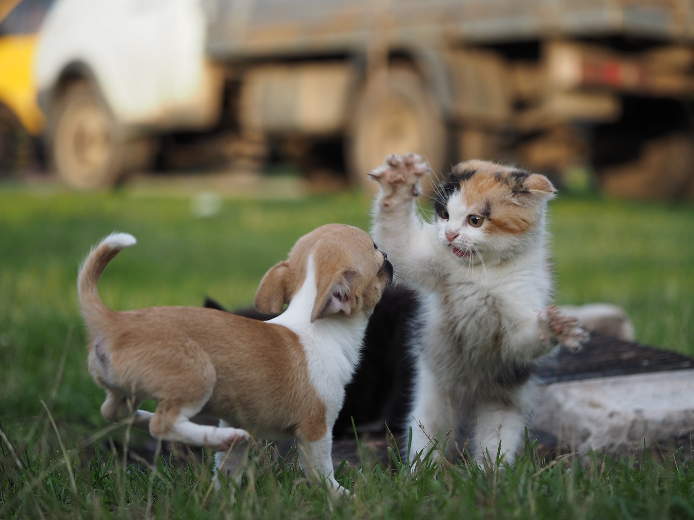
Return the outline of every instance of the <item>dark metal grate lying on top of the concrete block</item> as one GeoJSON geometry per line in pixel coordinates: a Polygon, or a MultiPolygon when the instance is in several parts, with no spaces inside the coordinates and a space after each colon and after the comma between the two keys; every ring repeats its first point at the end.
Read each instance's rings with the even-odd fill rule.
{"type": "Polygon", "coordinates": [[[694,368],[694,358],[656,347],[593,336],[576,354],[561,349],[536,371],[543,383],[694,368]]]}

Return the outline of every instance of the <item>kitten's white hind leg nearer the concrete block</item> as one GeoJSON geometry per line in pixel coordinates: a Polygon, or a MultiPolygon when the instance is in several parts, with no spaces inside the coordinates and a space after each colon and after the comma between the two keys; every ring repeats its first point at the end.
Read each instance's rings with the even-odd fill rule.
{"type": "Polygon", "coordinates": [[[513,405],[484,403],[477,408],[477,435],[471,441],[475,462],[494,468],[512,463],[525,429],[525,413],[513,405]]]}

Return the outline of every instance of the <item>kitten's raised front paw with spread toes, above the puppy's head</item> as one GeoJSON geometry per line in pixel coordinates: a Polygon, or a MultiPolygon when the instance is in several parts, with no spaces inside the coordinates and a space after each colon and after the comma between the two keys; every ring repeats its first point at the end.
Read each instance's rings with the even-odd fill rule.
{"type": "Polygon", "coordinates": [[[391,154],[386,157],[385,164],[369,173],[369,177],[381,185],[381,201],[388,207],[420,196],[420,180],[429,171],[429,165],[421,155],[391,154]]]}

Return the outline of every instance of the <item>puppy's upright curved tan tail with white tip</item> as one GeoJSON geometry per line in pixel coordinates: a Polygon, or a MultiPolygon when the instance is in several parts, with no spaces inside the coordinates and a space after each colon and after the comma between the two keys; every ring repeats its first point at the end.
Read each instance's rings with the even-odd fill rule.
{"type": "Polygon", "coordinates": [[[87,254],[80,273],[77,276],[77,296],[80,301],[82,315],[87,323],[87,328],[94,331],[99,327],[107,316],[112,313],[107,306],[101,302],[99,292],[96,291],[96,283],[99,281],[101,273],[106,268],[113,257],[121,249],[128,248],[135,244],[135,237],[127,233],[112,233],[95,245],[87,254]]]}

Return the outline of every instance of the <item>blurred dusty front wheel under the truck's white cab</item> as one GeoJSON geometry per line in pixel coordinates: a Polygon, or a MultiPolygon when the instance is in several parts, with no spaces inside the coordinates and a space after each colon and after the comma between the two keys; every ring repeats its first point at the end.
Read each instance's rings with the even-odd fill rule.
{"type": "Polygon", "coordinates": [[[49,147],[53,169],[71,188],[110,188],[126,173],[124,137],[95,87],[87,83],[71,85],[53,103],[49,147]]]}

